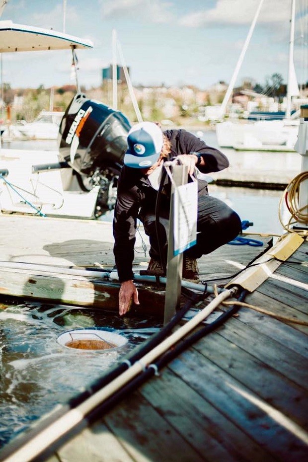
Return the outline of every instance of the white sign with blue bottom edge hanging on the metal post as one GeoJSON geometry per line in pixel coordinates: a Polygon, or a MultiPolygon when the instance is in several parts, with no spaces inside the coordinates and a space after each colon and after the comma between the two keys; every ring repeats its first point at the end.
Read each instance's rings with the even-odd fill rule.
{"type": "Polygon", "coordinates": [[[198,183],[183,184],[174,189],[174,255],[197,242],[198,183]]]}

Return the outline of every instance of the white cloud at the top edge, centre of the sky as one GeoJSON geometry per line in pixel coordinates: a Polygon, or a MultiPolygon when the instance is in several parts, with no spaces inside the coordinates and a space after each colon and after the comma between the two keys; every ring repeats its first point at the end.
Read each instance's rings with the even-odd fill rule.
{"type": "Polygon", "coordinates": [[[107,0],[101,1],[103,18],[129,16],[151,22],[169,22],[170,2],[161,0],[107,0]]]}

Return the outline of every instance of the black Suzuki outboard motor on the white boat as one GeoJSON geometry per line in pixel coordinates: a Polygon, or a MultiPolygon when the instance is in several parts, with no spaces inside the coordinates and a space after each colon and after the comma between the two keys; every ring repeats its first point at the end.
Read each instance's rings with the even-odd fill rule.
{"type": "Polygon", "coordinates": [[[131,124],[120,111],[83,93],[75,95],[62,118],[59,160],[72,167],[83,191],[100,186],[98,215],[102,208],[114,207],[130,128],[131,124]]]}

